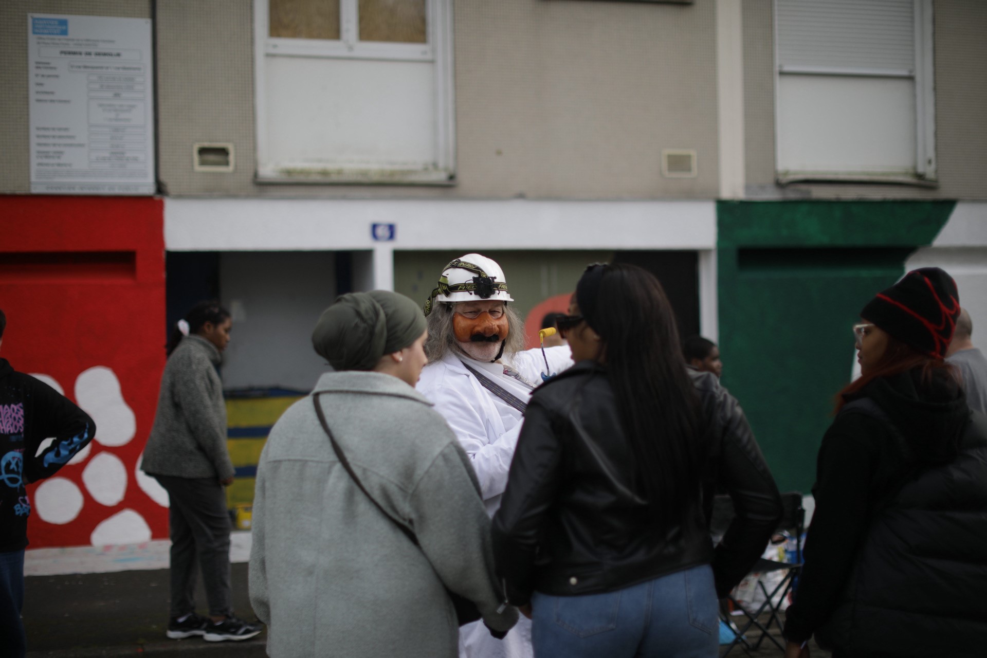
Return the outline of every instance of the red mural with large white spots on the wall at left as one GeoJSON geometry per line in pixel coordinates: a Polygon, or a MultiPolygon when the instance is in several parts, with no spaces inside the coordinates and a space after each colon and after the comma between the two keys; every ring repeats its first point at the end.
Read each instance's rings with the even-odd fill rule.
{"type": "Polygon", "coordinates": [[[168,536],[168,496],[139,471],[165,364],[162,212],[153,198],[0,196],[0,230],[16,226],[0,244],[0,356],[97,426],[28,486],[29,548],[168,536]]]}

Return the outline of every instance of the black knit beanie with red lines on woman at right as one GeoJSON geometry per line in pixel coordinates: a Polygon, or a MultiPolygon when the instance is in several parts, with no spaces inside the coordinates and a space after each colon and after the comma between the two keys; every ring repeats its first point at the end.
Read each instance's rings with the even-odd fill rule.
{"type": "Polygon", "coordinates": [[[946,356],[958,317],[956,283],[939,267],[913,269],[861,311],[864,320],[937,359],[946,356]]]}

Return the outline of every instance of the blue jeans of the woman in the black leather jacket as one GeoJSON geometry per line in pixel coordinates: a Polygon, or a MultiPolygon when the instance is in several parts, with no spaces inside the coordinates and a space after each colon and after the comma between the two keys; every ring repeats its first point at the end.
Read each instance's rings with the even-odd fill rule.
{"type": "Polygon", "coordinates": [[[531,607],[536,658],[710,658],[720,653],[709,564],[604,594],[535,592],[531,607]]]}

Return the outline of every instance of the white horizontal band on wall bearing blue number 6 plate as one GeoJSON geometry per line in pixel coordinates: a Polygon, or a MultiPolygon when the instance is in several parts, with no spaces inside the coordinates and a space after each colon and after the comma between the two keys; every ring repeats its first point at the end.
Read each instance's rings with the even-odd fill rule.
{"type": "Polygon", "coordinates": [[[394,250],[712,250],[717,244],[712,200],[165,199],[165,247],[173,252],[374,250],[381,244],[373,240],[373,224],[397,225],[388,243],[394,250]]]}

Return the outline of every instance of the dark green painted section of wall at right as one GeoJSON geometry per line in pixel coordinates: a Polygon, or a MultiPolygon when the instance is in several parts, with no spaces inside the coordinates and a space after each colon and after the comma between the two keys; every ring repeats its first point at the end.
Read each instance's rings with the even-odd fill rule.
{"type": "Polygon", "coordinates": [[[721,201],[722,382],[784,490],[808,492],[834,396],[856,359],[851,327],[954,202],[721,201]]]}

